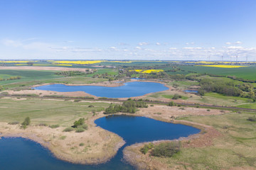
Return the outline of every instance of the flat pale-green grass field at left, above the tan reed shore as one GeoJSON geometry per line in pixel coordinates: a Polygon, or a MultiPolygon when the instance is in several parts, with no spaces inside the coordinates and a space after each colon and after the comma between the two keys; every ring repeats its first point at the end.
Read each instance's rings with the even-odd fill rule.
{"type": "Polygon", "coordinates": [[[108,103],[0,98],[0,120],[6,123],[14,121],[22,123],[28,116],[34,125],[46,123],[66,126],[78,118],[91,116],[92,111],[103,111],[107,106],[109,106],[108,103]],[[95,107],[88,107],[89,105],[95,107]]]}

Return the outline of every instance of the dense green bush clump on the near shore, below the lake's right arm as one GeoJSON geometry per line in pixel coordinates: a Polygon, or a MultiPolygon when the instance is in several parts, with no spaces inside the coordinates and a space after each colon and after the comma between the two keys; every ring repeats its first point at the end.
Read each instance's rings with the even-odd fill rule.
{"type": "Polygon", "coordinates": [[[154,149],[151,152],[151,155],[154,157],[171,157],[181,148],[181,142],[165,142],[157,146],[154,146],[154,149]]]}

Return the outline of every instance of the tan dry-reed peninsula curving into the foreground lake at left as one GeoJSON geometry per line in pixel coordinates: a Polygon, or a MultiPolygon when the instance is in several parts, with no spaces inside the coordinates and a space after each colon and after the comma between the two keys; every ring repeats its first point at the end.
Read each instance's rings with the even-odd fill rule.
{"type": "MultiPolygon", "coordinates": [[[[19,125],[9,125],[8,123],[0,123],[0,140],[1,137],[22,137],[27,140],[32,140],[40,144],[42,147],[48,149],[53,157],[56,159],[60,159],[65,162],[70,162],[72,164],[85,164],[85,165],[96,165],[96,164],[104,164],[108,162],[112,157],[117,154],[119,148],[121,148],[125,142],[122,137],[119,137],[114,132],[110,132],[100,127],[96,127],[94,120],[97,118],[105,117],[105,115],[99,115],[90,119],[88,125],[88,130],[85,132],[77,133],[77,132],[63,132],[63,127],[60,128],[49,128],[49,127],[41,127],[38,125],[30,125],[26,130],[19,128],[19,125]],[[56,132],[58,130],[59,132],[56,132]],[[43,133],[43,135],[42,135],[43,133]],[[79,144],[78,141],[82,141],[82,137],[85,138],[85,141],[88,141],[86,134],[92,135],[92,142],[98,142],[100,147],[96,147],[93,152],[90,153],[76,153],[69,152],[69,148],[75,143],[79,144]],[[90,133],[90,134],[89,134],[90,133]],[[68,141],[60,140],[60,137],[65,135],[68,141]],[[54,140],[54,138],[57,138],[54,140]],[[101,140],[97,140],[97,139],[101,140]],[[64,142],[64,145],[63,145],[64,142]],[[65,146],[68,147],[65,147],[65,146]],[[106,145],[104,147],[104,145],[106,145]]],[[[92,147],[92,146],[91,146],[92,147]]],[[[72,147],[71,147],[72,148],[72,147]]],[[[78,148],[79,149],[79,148],[78,148]]]]}

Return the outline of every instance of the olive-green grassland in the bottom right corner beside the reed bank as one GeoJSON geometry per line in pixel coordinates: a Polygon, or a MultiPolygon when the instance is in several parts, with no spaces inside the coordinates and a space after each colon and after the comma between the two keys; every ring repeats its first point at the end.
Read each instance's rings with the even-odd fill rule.
{"type": "MultiPolygon", "coordinates": [[[[190,116],[182,118],[211,125],[223,134],[210,147],[183,148],[171,158],[156,158],[171,167],[185,169],[230,169],[234,166],[256,168],[256,123],[247,120],[249,113],[190,116]]],[[[245,168],[246,169],[246,168],[245,168]]]]}

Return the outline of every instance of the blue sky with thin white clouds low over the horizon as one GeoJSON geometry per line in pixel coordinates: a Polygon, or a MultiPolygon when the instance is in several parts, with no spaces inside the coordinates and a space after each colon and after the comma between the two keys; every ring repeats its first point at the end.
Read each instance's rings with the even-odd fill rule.
{"type": "Polygon", "coordinates": [[[255,0],[1,0],[0,60],[256,60],[255,0]]]}

